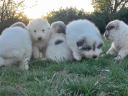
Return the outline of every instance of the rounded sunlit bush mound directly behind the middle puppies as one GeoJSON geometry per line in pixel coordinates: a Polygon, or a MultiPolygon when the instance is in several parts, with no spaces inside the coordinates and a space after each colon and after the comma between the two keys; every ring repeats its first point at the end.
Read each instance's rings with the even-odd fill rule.
{"type": "Polygon", "coordinates": [[[78,10],[76,8],[66,8],[60,9],[59,11],[52,11],[47,15],[47,19],[50,23],[58,20],[62,20],[65,24],[69,23],[72,20],[79,18],[85,18],[85,12],[83,10],[78,10]]]}

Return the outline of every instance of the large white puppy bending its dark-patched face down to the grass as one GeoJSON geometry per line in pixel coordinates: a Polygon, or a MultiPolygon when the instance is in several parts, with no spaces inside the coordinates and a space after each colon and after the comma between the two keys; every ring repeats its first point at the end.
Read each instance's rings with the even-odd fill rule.
{"type": "Polygon", "coordinates": [[[97,58],[102,52],[103,40],[98,28],[90,21],[75,20],[67,25],[66,39],[76,60],[97,58]]]}

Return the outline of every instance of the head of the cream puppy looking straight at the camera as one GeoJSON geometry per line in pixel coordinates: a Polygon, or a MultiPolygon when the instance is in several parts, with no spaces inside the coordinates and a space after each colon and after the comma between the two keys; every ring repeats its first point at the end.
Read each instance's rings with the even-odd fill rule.
{"type": "Polygon", "coordinates": [[[50,34],[50,24],[43,19],[35,19],[27,25],[32,40],[42,41],[48,38],[50,34]]]}

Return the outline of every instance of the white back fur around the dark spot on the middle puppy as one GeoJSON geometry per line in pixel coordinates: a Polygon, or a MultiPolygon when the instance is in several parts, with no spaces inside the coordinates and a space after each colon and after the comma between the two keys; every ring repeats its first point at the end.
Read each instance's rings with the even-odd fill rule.
{"type": "Polygon", "coordinates": [[[63,34],[52,35],[46,50],[46,57],[57,62],[72,60],[71,50],[67,46],[65,36],[63,36],[63,34]],[[55,45],[57,40],[62,40],[63,43],[55,45]]]}

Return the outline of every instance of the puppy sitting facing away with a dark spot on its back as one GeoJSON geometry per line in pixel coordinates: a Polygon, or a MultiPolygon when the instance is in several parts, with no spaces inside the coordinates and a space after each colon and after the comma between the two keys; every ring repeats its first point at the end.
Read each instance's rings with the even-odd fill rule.
{"type": "Polygon", "coordinates": [[[56,62],[72,60],[71,50],[65,39],[66,25],[62,21],[51,24],[51,36],[46,50],[46,57],[56,62]]]}

